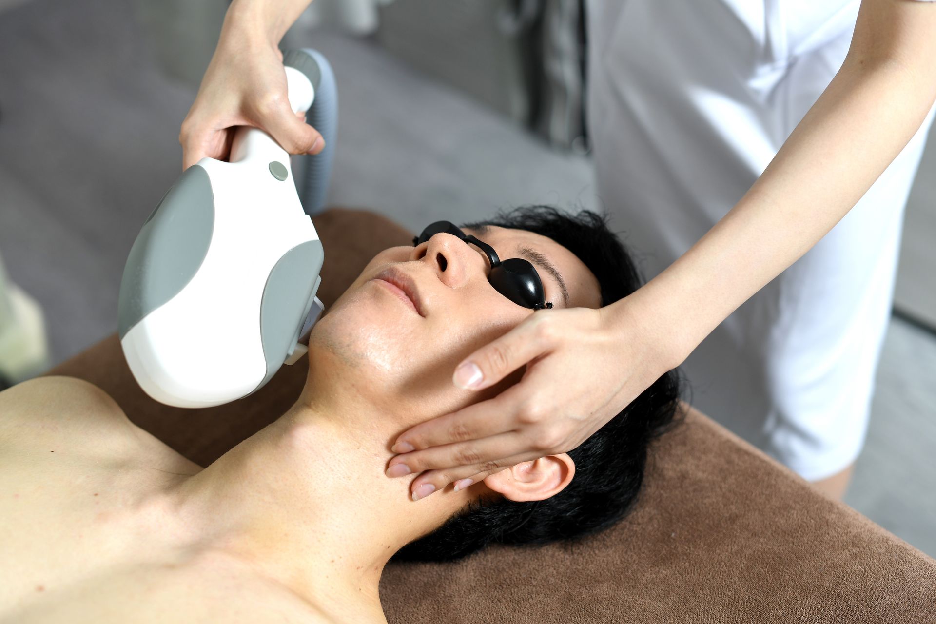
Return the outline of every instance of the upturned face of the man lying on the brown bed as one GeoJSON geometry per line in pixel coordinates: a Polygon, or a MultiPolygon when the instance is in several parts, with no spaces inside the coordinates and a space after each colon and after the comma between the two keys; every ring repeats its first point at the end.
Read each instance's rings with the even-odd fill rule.
{"type": "MultiPolygon", "coordinates": [[[[568,294],[566,303],[559,280],[534,263],[553,310],[600,307],[600,289],[592,272],[554,240],[497,226],[483,233],[463,231],[488,243],[502,261],[524,257],[523,248],[542,254],[556,268],[568,294]]],[[[450,234],[436,234],[417,247],[384,250],[315,325],[310,362],[328,362],[338,369],[327,371],[329,379],[337,383],[344,379],[368,399],[386,402],[388,413],[408,414],[408,424],[498,394],[519,381],[523,369],[479,396],[452,385],[455,367],[531,314],[552,311],[534,312],[514,303],[488,282],[489,272],[488,257],[480,249],[450,234]],[[415,305],[396,286],[375,279],[381,274],[388,277],[388,269],[412,284],[415,305]]],[[[319,372],[326,371],[310,374],[319,372]]]]}

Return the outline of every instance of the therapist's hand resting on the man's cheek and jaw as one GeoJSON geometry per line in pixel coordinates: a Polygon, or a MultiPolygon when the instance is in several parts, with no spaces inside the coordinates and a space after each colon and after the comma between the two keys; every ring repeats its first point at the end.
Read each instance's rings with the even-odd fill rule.
{"type": "Polygon", "coordinates": [[[466,389],[526,370],[493,399],[403,432],[388,476],[422,472],[411,486],[418,500],[450,483],[463,489],[506,467],[576,448],[675,367],[665,341],[643,328],[648,324],[628,309],[627,298],[613,308],[538,311],[466,357],[453,384],[465,387],[464,364],[474,363],[483,378],[466,389]]]}

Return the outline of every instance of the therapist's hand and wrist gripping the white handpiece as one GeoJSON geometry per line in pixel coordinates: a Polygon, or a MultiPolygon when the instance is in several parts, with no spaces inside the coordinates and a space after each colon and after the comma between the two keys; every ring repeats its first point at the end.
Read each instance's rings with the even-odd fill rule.
{"type": "Polygon", "coordinates": [[[212,62],[182,123],[183,170],[205,156],[227,160],[234,129],[267,131],[289,153],[318,153],[321,135],[289,106],[279,42],[312,0],[234,0],[212,62]]]}

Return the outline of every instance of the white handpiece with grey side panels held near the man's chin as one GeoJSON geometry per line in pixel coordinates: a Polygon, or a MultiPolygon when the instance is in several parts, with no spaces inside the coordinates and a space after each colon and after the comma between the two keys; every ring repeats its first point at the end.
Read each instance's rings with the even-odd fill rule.
{"type": "MultiPolygon", "coordinates": [[[[299,69],[285,72],[290,105],[304,112],[314,86],[299,69]]],[[[289,154],[263,130],[238,128],[230,162],[206,157],[186,169],[154,215],[121,283],[130,370],[147,394],[179,407],[251,394],[293,356],[324,259],[289,154]]]]}

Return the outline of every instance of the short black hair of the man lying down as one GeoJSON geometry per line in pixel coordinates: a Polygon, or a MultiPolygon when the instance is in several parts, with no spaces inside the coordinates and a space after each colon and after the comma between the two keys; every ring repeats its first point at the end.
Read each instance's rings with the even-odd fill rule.
{"type": "MultiPolygon", "coordinates": [[[[478,230],[482,238],[486,225],[535,232],[576,254],[597,278],[603,307],[642,283],[622,241],[608,229],[607,215],[581,210],[573,216],[549,206],[523,206],[461,227],[478,230]]],[[[620,366],[623,375],[627,362],[620,366]]],[[[490,543],[547,544],[607,529],[636,501],[648,445],[674,422],[679,394],[679,378],[670,370],[569,451],[576,474],[562,492],[545,501],[474,502],[439,529],[403,546],[393,560],[461,559],[490,543]]]]}

